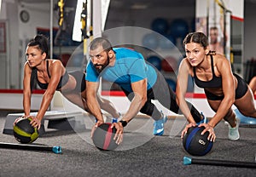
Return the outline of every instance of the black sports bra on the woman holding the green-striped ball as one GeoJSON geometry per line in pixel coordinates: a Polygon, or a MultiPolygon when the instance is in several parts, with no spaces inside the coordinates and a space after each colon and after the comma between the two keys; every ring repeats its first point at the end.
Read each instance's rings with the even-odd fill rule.
{"type": "MultiPolygon", "coordinates": [[[[46,60],[46,68],[47,68],[48,76],[50,78],[50,75],[49,75],[49,60],[46,60]]],[[[33,68],[33,69],[37,70],[36,67],[33,68]]],[[[35,71],[35,74],[36,74],[38,86],[42,89],[47,89],[48,88],[48,83],[40,83],[38,81],[38,71],[35,71]]],[[[69,79],[69,75],[68,75],[67,71],[65,71],[65,74],[61,77],[60,82],[58,83],[56,89],[60,89],[63,85],[65,85],[67,83],[68,79],[69,79]]]]}

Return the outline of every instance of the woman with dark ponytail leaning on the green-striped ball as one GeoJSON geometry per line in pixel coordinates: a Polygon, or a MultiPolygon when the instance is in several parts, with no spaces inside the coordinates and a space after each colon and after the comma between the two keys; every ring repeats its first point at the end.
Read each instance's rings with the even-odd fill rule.
{"type": "MultiPolygon", "coordinates": [[[[67,72],[61,60],[48,59],[48,39],[38,35],[27,44],[23,79],[24,117],[32,117],[33,127],[40,128],[41,120],[53,99],[55,90],[60,91],[73,104],[90,112],[85,101],[84,73],[82,71],[67,72]],[[45,92],[38,114],[32,117],[30,116],[32,88],[37,83],[40,88],[45,89],[45,92]]],[[[98,100],[103,110],[111,113],[113,117],[119,117],[119,112],[114,109],[110,101],[98,100]]]]}

